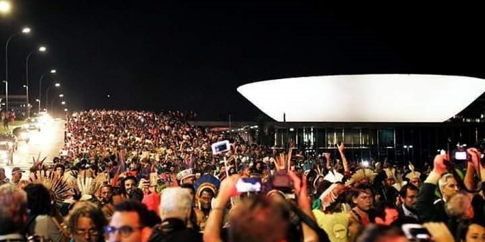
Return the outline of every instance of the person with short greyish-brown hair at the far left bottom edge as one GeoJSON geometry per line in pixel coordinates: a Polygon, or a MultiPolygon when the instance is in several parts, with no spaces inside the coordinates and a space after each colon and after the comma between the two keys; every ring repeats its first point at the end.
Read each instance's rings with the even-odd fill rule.
{"type": "Polygon", "coordinates": [[[10,184],[0,186],[0,242],[24,241],[27,223],[27,193],[10,184]]]}

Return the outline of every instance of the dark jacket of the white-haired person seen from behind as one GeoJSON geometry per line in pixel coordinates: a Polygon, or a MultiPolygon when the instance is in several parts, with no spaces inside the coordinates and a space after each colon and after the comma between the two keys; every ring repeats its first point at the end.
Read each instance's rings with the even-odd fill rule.
{"type": "Polygon", "coordinates": [[[202,233],[188,229],[177,218],[168,218],[153,228],[148,242],[202,242],[202,233]]]}

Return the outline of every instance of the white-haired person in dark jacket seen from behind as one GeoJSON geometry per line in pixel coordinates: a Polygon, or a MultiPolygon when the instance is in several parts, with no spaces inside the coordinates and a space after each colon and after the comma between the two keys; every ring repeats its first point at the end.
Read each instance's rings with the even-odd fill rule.
{"type": "Polygon", "coordinates": [[[188,189],[164,189],[159,209],[162,223],[154,228],[149,241],[202,242],[201,233],[187,228],[192,212],[192,195],[188,189]]]}

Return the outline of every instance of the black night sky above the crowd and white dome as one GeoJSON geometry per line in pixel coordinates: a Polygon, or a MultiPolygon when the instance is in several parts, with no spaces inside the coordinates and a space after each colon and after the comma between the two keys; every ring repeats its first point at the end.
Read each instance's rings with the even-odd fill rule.
{"type": "MultiPolygon", "coordinates": [[[[207,120],[231,114],[249,121],[261,112],[236,88],[258,80],[367,73],[485,77],[485,21],[478,6],[13,2],[15,11],[0,17],[0,43],[23,25],[32,36],[12,40],[10,92],[22,92],[25,57],[44,43],[48,53],[31,59],[31,98],[38,96],[39,76],[56,68],[71,109],[190,110],[207,120]]],[[[0,76],[4,72],[0,68],[0,76]]]]}

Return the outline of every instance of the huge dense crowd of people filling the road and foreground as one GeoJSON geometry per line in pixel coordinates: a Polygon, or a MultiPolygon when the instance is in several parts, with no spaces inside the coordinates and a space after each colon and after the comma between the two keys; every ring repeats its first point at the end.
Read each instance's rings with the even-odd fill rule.
{"type": "Polygon", "coordinates": [[[0,169],[0,241],[485,241],[481,150],[410,162],[309,159],[190,125],[191,115],[67,117],[60,157],[0,169]],[[464,167],[464,169],[463,169],[464,167]]]}

